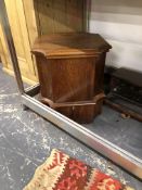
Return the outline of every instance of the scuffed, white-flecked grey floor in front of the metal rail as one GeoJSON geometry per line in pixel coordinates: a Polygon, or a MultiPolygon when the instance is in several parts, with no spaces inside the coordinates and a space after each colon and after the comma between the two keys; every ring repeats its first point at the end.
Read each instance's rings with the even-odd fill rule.
{"type": "MultiPolygon", "coordinates": [[[[95,126],[98,130],[101,123],[95,126]]],[[[53,148],[142,190],[142,181],[34,112],[23,111],[14,78],[0,68],[0,190],[22,190],[53,148]]]]}

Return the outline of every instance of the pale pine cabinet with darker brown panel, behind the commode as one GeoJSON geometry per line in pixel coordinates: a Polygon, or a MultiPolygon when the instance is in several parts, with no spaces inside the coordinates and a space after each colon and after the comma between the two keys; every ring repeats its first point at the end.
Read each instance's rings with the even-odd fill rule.
{"type": "MultiPolygon", "coordinates": [[[[4,0],[22,76],[38,81],[30,50],[38,36],[57,31],[82,31],[86,28],[85,0],[4,0]]],[[[0,25],[0,56],[3,69],[12,74],[4,34],[0,25]]]]}

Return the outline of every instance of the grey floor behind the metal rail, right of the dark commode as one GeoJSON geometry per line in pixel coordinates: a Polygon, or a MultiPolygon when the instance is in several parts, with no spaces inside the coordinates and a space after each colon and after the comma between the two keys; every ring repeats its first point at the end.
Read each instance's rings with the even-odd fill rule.
{"type": "Polygon", "coordinates": [[[103,106],[103,113],[92,124],[85,125],[91,131],[142,159],[142,123],[122,118],[120,113],[103,106]]]}

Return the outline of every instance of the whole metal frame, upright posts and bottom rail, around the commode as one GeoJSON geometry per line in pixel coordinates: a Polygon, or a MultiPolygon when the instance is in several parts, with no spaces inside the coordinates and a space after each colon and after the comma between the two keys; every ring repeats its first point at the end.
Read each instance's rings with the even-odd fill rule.
{"type": "MultiPolygon", "coordinates": [[[[89,13],[91,0],[87,0],[87,1],[88,1],[87,13],[89,13]]],[[[39,115],[43,116],[48,121],[55,124],[57,127],[64,129],[66,132],[68,132],[69,135],[78,139],[79,141],[83,142],[85,144],[89,145],[90,148],[100,152],[101,154],[107,156],[116,164],[122,166],[124,168],[129,170],[131,174],[142,179],[142,160],[135,157],[129,152],[118,148],[117,145],[103,139],[96,134],[91,132],[83,126],[73,122],[72,119],[65,117],[64,115],[55,112],[54,110],[37,101],[33,97],[38,93],[40,88],[39,85],[30,87],[26,90],[24,89],[22,75],[21,75],[21,71],[17,62],[17,56],[15,52],[15,47],[13,43],[13,38],[12,38],[9,20],[5,11],[4,0],[0,0],[0,16],[3,23],[3,29],[5,33],[5,37],[7,37],[10,54],[11,54],[11,60],[13,63],[13,68],[14,68],[14,73],[17,81],[17,87],[21,92],[23,105],[31,109],[39,115]]]]}

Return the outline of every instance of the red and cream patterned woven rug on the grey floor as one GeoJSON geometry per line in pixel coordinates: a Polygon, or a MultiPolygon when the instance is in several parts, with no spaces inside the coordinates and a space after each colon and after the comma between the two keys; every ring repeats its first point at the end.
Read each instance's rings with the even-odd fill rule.
{"type": "Polygon", "coordinates": [[[24,190],[132,190],[96,168],[53,149],[24,190]]]}

